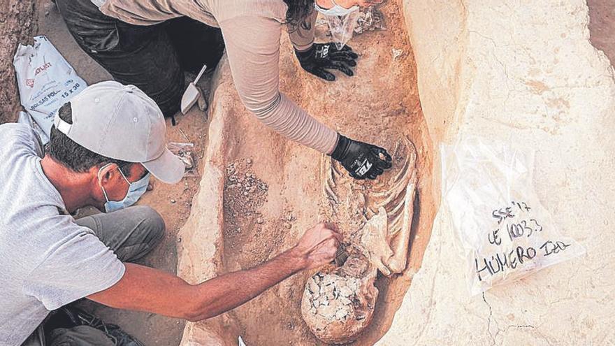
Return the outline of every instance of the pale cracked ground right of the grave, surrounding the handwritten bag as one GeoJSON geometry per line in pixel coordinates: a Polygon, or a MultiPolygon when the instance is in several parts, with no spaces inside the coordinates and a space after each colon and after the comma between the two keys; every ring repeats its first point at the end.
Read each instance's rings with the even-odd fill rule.
{"type": "Polygon", "coordinates": [[[587,254],[470,297],[441,208],[378,345],[610,345],[615,82],[589,41],[585,1],[406,0],[404,13],[433,143],[477,135],[537,148],[540,201],[587,254]]]}

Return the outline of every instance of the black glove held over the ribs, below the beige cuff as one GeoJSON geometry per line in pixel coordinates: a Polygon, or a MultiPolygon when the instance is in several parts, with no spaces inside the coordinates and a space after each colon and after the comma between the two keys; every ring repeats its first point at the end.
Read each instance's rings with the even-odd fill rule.
{"type": "Polygon", "coordinates": [[[352,178],[375,179],[385,169],[391,168],[391,155],[382,147],[339,136],[331,157],[340,161],[352,178]]]}

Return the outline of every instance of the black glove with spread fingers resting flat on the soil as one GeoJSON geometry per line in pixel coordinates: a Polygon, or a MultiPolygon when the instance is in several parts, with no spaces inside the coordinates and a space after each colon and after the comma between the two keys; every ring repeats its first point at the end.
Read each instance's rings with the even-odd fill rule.
{"type": "Polygon", "coordinates": [[[335,75],[326,69],[340,70],[352,76],[354,72],[350,67],[356,66],[354,60],[359,57],[347,45],[338,50],[335,43],[314,43],[312,48],[304,52],[295,50],[295,55],[305,71],[329,81],[335,80],[335,75]]]}

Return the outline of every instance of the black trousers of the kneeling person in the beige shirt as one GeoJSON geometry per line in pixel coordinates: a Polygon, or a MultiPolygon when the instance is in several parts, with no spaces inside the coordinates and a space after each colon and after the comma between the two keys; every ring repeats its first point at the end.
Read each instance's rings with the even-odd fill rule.
{"type": "Polygon", "coordinates": [[[56,0],[68,31],[115,80],[135,85],[166,117],[180,109],[184,71],[213,69],[224,52],[222,31],[189,17],[140,26],[103,15],[90,0],[56,0]]]}

